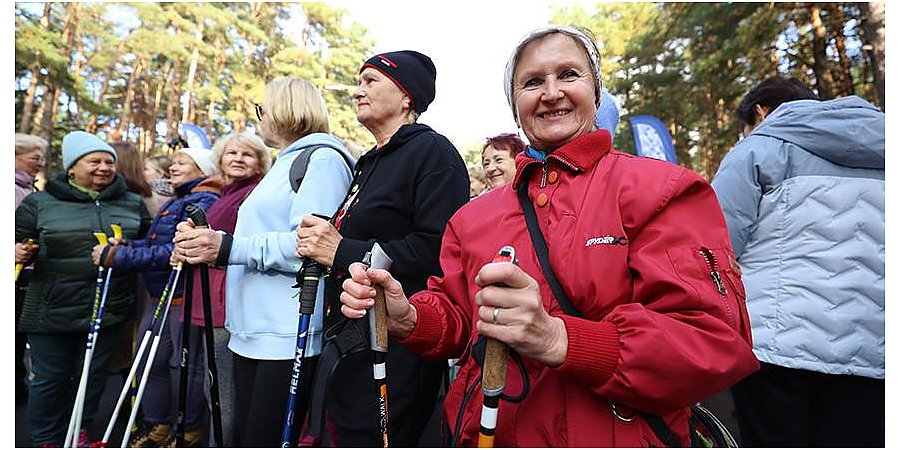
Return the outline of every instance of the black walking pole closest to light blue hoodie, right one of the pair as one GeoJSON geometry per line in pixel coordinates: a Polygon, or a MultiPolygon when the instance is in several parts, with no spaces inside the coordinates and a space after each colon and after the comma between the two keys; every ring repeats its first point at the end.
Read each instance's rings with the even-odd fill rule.
{"type": "MultiPolygon", "coordinates": [[[[209,228],[209,223],[206,221],[206,213],[203,209],[190,204],[185,210],[187,211],[188,218],[194,222],[195,227],[209,228]]],[[[212,326],[212,299],[210,298],[209,289],[209,266],[206,264],[200,264],[200,287],[203,292],[203,340],[206,341],[206,367],[209,371],[207,375],[209,375],[209,397],[212,407],[213,436],[216,439],[216,446],[222,447],[225,444],[222,439],[222,409],[219,403],[219,371],[216,367],[215,336],[213,336],[212,326]]],[[[190,316],[185,314],[185,317],[190,316]]],[[[185,319],[185,323],[187,323],[187,319],[185,319]]]]}

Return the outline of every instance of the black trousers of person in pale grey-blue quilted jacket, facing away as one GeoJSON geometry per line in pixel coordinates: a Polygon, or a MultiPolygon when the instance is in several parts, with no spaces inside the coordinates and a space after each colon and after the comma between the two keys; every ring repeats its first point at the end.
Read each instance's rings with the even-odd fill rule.
{"type": "Polygon", "coordinates": [[[742,447],[884,447],[884,380],[762,363],[732,388],[742,447]]]}

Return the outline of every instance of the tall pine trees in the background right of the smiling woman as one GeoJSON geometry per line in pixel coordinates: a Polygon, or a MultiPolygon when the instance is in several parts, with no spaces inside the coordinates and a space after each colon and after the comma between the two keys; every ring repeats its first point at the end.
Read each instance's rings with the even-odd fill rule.
{"type": "MultiPolygon", "coordinates": [[[[738,139],[732,116],[745,93],[771,75],[816,87],[809,8],[800,3],[598,3],[557,8],[552,22],[597,38],[602,81],[618,100],[616,148],[634,152],[628,119],[649,114],[669,125],[678,159],[711,178],[738,139]]],[[[862,19],[851,3],[818,4],[834,36],[828,71],[839,78],[837,37],[856,39],[862,19]]],[[[875,100],[865,58],[851,61],[852,91],[875,100]]]]}

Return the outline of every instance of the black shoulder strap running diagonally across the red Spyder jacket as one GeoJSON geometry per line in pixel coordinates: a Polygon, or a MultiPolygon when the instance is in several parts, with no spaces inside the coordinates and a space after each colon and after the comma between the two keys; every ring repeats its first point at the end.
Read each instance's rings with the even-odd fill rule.
{"type": "MultiPolygon", "coordinates": [[[[531,199],[528,198],[528,182],[526,180],[523,180],[522,184],[519,185],[518,194],[519,203],[522,204],[522,210],[525,212],[525,224],[528,225],[528,234],[531,236],[534,252],[537,253],[538,262],[541,264],[541,271],[544,272],[544,278],[547,279],[550,290],[553,291],[553,296],[556,297],[556,301],[566,314],[581,317],[581,313],[575,308],[572,301],[569,300],[566,292],[563,291],[559,279],[556,278],[556,274],[553,273],[553,267],[550,266],[550,251],[547,248],[547,241],[544,239],[544,234],[541,233],[541,227],[538,225],[537,213],[534,211],[534,205],[531,203],[531,199]]],[[[643,414],[643,416],[647,421],[647,425],[653,429],[653,433],[656,434],[656,437],[659,438],[660,441],[669,447],[681,446],[678,437],[672,433],[672,430],[666,425],[666,422],[662,417],[651,414],[643,414]]]]}

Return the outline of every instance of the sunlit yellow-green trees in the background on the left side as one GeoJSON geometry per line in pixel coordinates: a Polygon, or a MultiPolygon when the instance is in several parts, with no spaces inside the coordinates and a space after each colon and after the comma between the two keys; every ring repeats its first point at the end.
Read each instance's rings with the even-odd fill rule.
{"type": "Polygon", "coordinates": [[[88,129],[150,152],[177,131],[183,116],[212,139],[255,126],[253,103],[262,101],[266,82],[298,76],[321,88],[332,132],[363,147],[373,143],[346,89],[356,84],[373,41],[342,9],[278,2],[50,3],[42,26],[45,5],[15,7],[17,128],[26,105],[32,116],[49,114],[44,111],[54,90],[60,90],[60,105],[49,129],[35,117],[21,131],[58,141],[72,129],[88,129]],[[66,23],[73,46],[65,42],[66,23]],[[34,77],[38,85],[29,98],[25,88],[34,77]],[[158,127],[167,131],[158,134],[158,127]]]}

